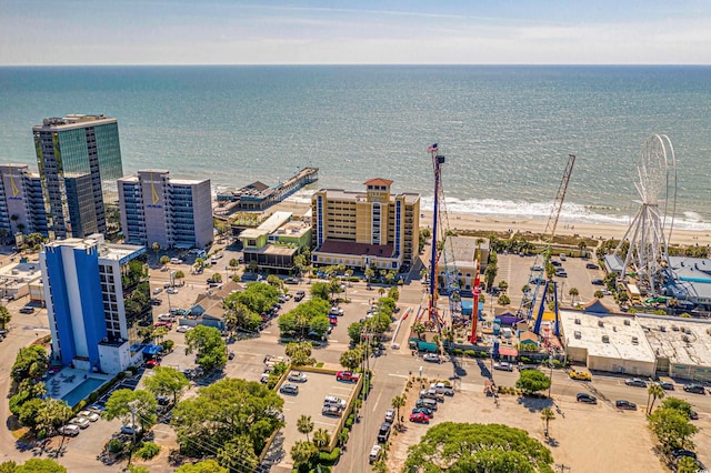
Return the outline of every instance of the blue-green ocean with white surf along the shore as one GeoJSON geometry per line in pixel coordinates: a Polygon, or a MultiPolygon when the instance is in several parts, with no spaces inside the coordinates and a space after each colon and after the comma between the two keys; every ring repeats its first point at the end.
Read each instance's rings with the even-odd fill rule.
{"type": "Polygon", "coordinates": [[[667,134],[674,227],[711,229],[711,67],[0,68],[0,104],[2,163],[37,170],[43,118],[103,113],[119,119],[126,174],[168,169],[213,190],[311,165],[318,188],[380,177],[431,208],[439,143],[447,209],[502,218],[547,219],[572,153],[568,223],[627,223],[641,145],[667,134]]]}

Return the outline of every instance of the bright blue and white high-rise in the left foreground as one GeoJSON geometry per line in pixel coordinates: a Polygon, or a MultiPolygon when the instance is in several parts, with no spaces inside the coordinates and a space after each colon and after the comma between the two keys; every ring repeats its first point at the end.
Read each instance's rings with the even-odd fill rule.
{"type": "Polygon", "coordinates": [[[142,359],[138,332],[153,321],[146,251],[107,244],[101,234],[44,245],[40,268],[52,362],[118,373],[142,359]]]}

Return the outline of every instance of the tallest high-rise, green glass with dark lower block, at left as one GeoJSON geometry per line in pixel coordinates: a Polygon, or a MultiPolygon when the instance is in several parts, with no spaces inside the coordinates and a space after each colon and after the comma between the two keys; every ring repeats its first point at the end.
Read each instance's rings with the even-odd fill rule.
{"type": "Polygon", "coordinates": [[[50,238],[118,231],[118,222],[107,228],[107,213],[118,205],[116,180],[123,175],[117,119],[70,114],[44,119],[32,131],[50,238]]]}

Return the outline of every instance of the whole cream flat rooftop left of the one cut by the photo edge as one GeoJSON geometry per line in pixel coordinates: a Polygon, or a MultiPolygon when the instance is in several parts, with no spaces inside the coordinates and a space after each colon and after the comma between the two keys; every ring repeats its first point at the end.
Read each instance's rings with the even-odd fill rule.
{"type": "Polygon", "coordinates": [[[560,311],[565,344],[588,355],[653,363],[654,351],[633,315],[560,311]],[[605,338],[603,341],[603,338],[605,338]]]}

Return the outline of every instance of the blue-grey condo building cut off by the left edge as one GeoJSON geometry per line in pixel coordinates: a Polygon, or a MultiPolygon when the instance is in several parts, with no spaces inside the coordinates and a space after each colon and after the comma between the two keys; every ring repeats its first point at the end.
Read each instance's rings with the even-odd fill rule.
{"type": "Polygon", "coordinates": [[[0,241],[18,233],[49,236],[42,182],[27,164],[0,164],[0,241]]]}

